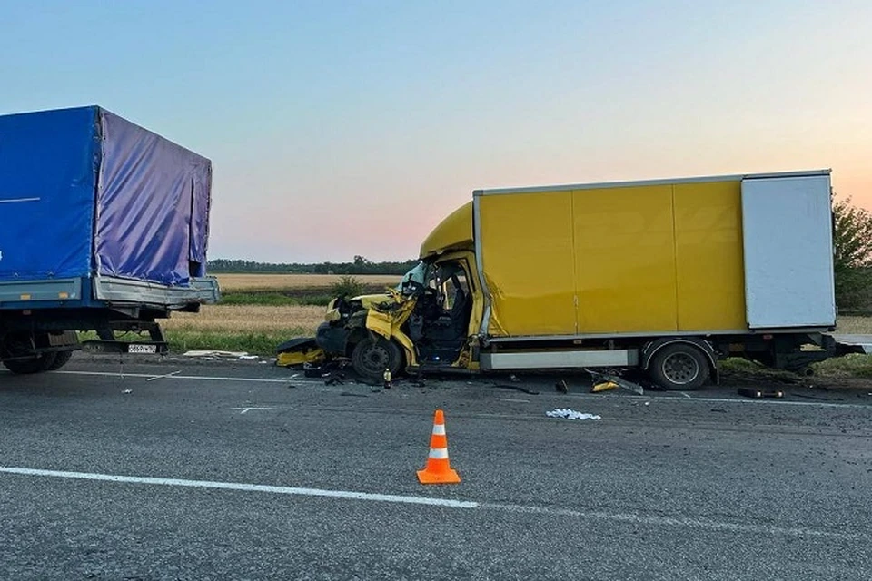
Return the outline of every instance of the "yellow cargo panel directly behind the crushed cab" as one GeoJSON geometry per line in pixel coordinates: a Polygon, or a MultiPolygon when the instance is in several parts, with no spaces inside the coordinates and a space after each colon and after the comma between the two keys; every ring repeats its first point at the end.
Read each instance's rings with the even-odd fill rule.
{"type": "Polygon", "coordinates": [[[576,332],[570,192],[481,196],[491,335],[576,332]]]}

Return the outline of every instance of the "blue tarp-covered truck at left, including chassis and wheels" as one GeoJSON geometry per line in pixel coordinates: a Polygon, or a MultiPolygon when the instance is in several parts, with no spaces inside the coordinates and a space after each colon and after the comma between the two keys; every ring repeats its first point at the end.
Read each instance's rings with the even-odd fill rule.
{"type": "Polygon", "coordinates": [[[59,369],[83,345],[165,352],[158,320],[219,300],[211,202],[212,162],[101,107],[0,116],[5,368],[59,369]]]}

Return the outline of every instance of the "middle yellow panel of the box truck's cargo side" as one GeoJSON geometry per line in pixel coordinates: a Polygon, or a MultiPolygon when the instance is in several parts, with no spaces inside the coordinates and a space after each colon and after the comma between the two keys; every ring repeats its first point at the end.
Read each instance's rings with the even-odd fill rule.
{"type": "Polygon", "coordinates": [[[672,186],[572,192],[581,333],[675,331],[672,186]]]}

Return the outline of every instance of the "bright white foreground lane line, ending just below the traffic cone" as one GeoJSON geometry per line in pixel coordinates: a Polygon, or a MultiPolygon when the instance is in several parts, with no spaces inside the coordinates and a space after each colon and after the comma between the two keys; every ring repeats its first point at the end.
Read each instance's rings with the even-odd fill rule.
{"type": "Polygon", "coordinates": [[[168,487],[221,488],[223,490],[243,490],[245,492],[271,492],[300,497],[349,498],[353,500],[372,500],[375,502],[400,502],[410,505],[433,505],[437,507],[477,508],[479,503],[450,498],[406,497],[393,494],[371,492],[352,492],[349,490],[327,490],[323,488],[273,487],[264,484],[243,484],[240,482],[211,482],[209,480],[184,480],[181,478],[150,478],[141,476],[117,476],[114,474],[93,474],[90,472],[64,472],[60,470],[38,470],[35,468],[0,467],[0,472],[24,476],[51,478],[75,478],[79,480],[102,480],[104,482],[124,482],[128,484],[155,484],[168,487]]]}

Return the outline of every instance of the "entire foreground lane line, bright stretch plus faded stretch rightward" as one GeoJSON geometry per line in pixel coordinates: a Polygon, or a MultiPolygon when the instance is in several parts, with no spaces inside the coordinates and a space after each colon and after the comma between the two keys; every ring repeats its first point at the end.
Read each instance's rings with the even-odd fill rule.
{"type": "Polygon", "coordinates": [[[706,518],[684,517],[646,517],[630,513],[611,513],[604,511],[576,510],[564,507],[544,507],[533,505],[503,504],[496,502],[477,502],[474,500],[453,500],[440,497],[411,497],[404,495],[379,494],[372,492],[354,492],[351,490],[330,490],[324,488],[277,487],[263,484],[244,484],[240,482],[213,482],[209,480],[186,480],[181,478],[152,478],[138,476],[119,476],[113,474],[94,474],[90,472],[67,472],[61,470],[43,470],[37,468],[0,467],[0,473],[20,476],[46,478],[73,478],[79,480],[97,480],[104,482],[120,482],[125,484],[150,484],[168,487],[218,488],[222,490],[239,490],[243,492],[266,492],[298,497],[328,497],[346,500],[367,500],[371,502],[391,502],[407,505],[429,505],[435,507],[450,507],[464,509],[487,509],[503,512],[520,512],[540,514],[550,517],[577,517],[587,520],[604,520],[610,522],[629,523],[633,525],[649,525],[654,527],[694,527],[707,528],[739,534],[761,534],[767,536],[783,535],[788,537],[826,537],[841,540],[868,541],[872,535],[865,533],[842,533],[825,529],[808,527],[777,527],[755,524],[743,524],[728,521],[708,520],[706,518]]]}

